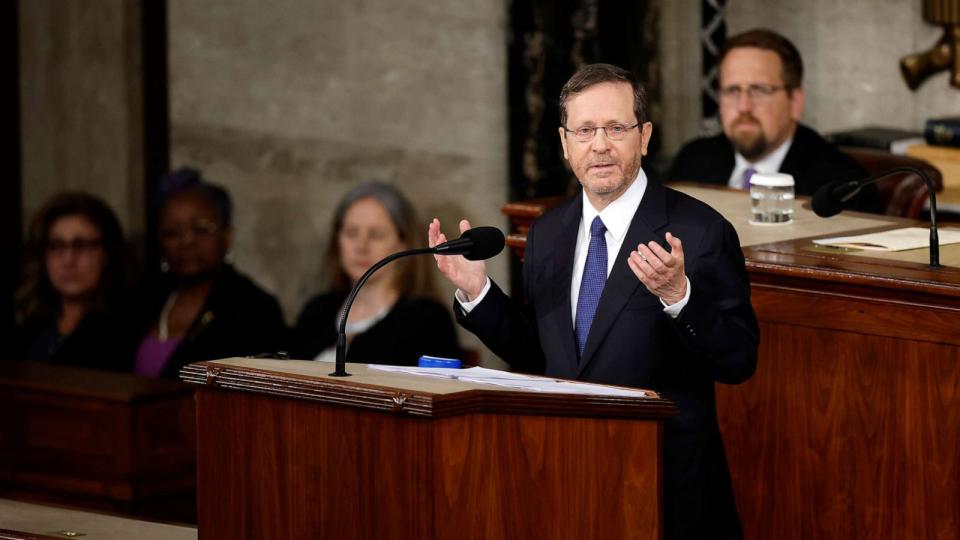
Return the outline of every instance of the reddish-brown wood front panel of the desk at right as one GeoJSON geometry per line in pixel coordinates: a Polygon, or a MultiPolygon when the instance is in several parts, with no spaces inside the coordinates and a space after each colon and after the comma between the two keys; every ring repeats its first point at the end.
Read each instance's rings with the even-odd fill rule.
{"type": "Polygon", "coordinates": [[[747,538],[957,538],[960,315],[754,287],[752,379],[718,385],[747,538]]]}

